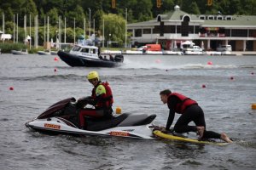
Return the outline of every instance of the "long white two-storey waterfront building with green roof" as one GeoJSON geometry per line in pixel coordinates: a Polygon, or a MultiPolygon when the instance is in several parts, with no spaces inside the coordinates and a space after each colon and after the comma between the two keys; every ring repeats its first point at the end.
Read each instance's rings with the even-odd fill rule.
{"type": "Polygon", "coordinates": [[[187,14],[178,6],[154,20],[127,26],[131,44],[160,43],[164,49],[180,48],[185,41],[206,50],[230,44],[234,51],[256,51],[256,16],[187,14]],[[203,47],[202,47],[203,46],[203,47]]]}

